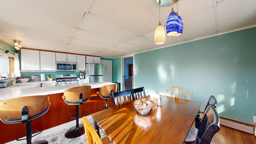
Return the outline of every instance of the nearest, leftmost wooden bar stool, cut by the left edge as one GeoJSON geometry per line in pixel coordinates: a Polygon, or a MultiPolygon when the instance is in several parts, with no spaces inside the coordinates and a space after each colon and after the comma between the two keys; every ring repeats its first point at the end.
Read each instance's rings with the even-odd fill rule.
{"type": "MultiPolygon", "coordinates": [[[[20,98],[13,98],[0,102],[0,120],[5,124],[26,123],[26,134],[17,138],[17,140],[27,140],[27,144],[31,144],[32,120],[45,114],[50,108],[50,98],[48,95],[44,96],[24,96],[20,98]],[[21,139],[26,136],[26,138],[21,139]]],[[[35,134],[34,136],[36,136],[35,134]]],[[[48,144],[46,140],[39,140],[33,144],[48,144]]]]}

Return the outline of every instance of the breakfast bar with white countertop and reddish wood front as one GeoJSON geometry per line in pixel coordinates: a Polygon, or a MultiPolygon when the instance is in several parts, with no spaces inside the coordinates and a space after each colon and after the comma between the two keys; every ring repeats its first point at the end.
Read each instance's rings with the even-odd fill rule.
{"type": "MultiPolygon", "coordinates": [[[[23,96],[49,95],[50,109],[40,118],[32,120],[33,130],[46,130],[74,120],[68,117],[76,113],[76,106],[67,105],[63,101],[62,95],[64,90],[76,86],[91,86],[90,99],[79,106],[79,112],[82,112],[83,116],[88,116],[100,111],[100,108],[106,104],[106,100],[100,98],[96,92],[99,91],[100,87],[114,83],[95,82],[50,87],[40,87],[40,84],[41,82],[27,82],[20,86],[16,85],[0,89],[0,101],[23,96]]],[[[109,106],[113,106],[113,102],[109,102],[109,106]]],[[[0,122],[0,129],[0,144],[16,140],[19,136],[26,134],[26,124],[21,123],[4,124],[0,122]]]]}

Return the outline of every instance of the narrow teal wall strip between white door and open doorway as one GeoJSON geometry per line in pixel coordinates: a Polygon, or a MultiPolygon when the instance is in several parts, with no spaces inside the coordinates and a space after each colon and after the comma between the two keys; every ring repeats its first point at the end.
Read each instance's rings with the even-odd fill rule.
{"type": "Polygon", "coordinates": [[[112,82],[121,83],[121,58],[112,59],[112,82]]]}

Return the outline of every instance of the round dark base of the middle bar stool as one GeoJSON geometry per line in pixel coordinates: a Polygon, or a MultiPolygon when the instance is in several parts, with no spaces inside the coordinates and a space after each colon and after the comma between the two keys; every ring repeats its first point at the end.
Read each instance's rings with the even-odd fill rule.
{"type": "Polygon", "coordinates": [[[78,127],[73,126],[70,129],[68,129],[65,133],[66,138],[76,138],[78,136],[82,136],[84,134],[84,125],[79,124],[78,127]]]}

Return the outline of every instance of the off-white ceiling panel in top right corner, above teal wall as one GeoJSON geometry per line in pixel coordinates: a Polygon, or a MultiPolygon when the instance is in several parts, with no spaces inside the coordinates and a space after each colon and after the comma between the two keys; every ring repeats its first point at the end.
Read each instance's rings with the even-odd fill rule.
{"type": "Polygon", "coordinates": [[[256,24],[256,0],[224,0],[217,4],[218,30],[226,32],[256,24]]]}

